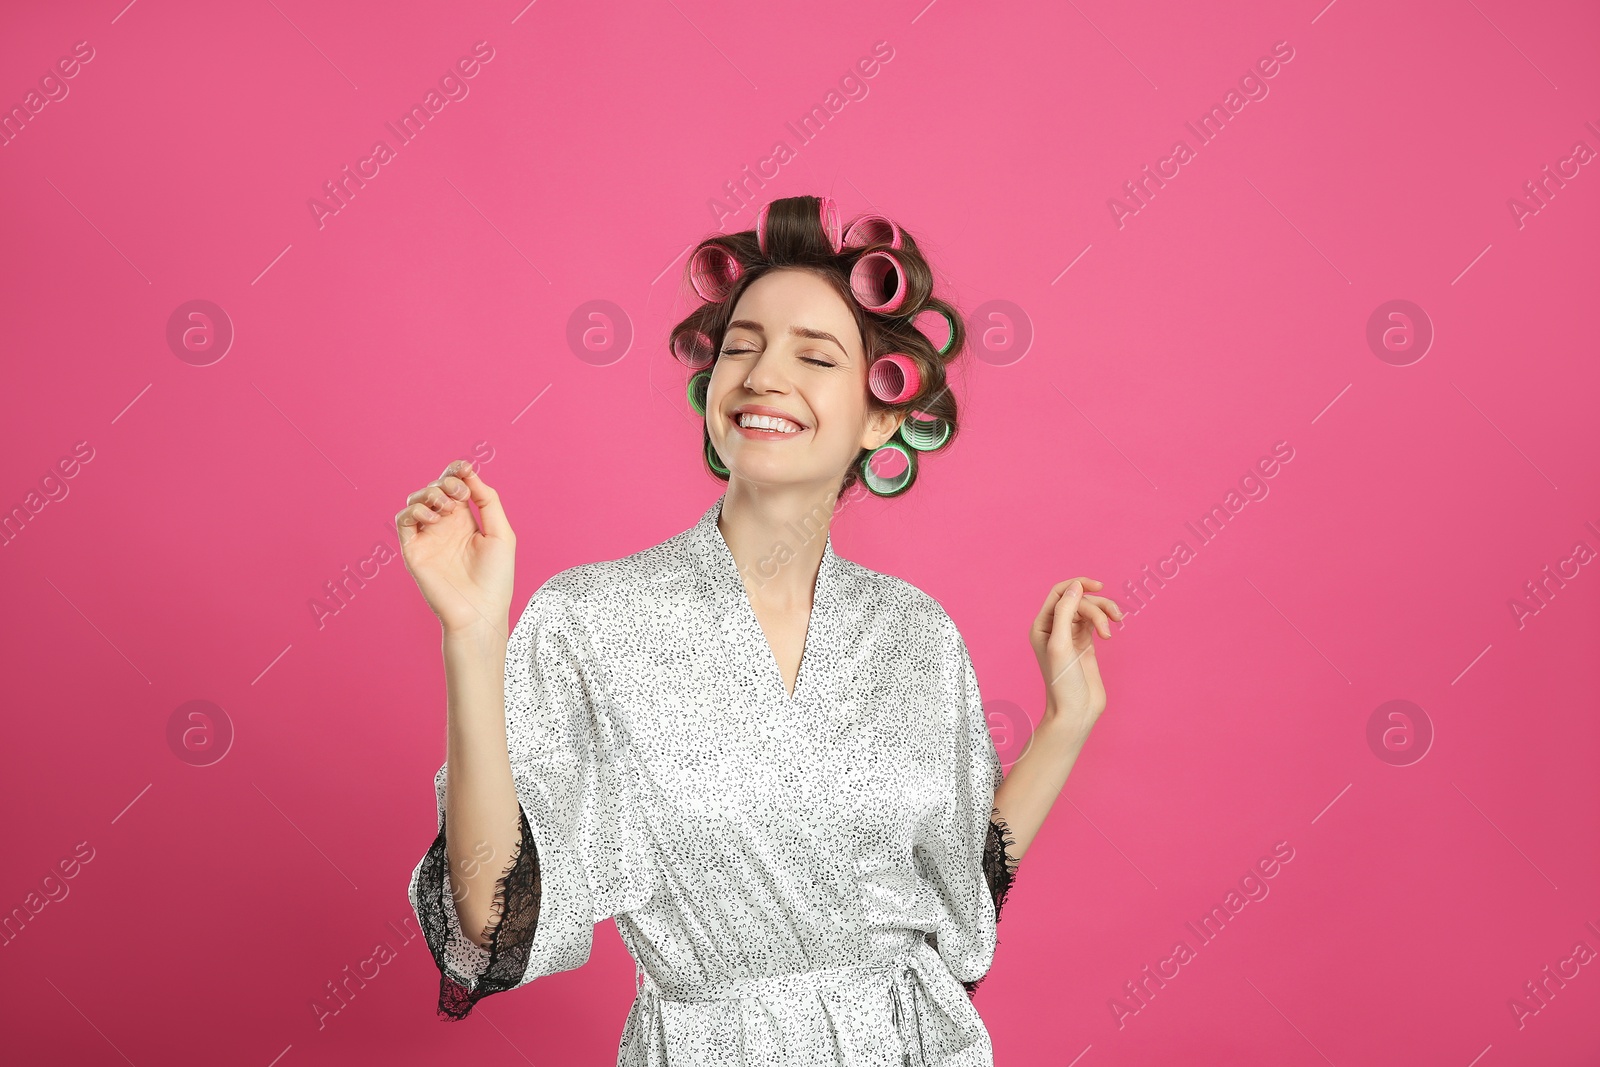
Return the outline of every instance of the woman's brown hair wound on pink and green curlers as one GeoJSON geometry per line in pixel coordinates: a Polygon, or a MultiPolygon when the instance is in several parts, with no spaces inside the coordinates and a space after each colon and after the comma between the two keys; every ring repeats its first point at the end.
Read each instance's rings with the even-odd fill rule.
{"type": "MultiPolygon", "coordinates": [[[[957,435],[957,403],[955,394],[950,392],[947,384],[946,370],[966,347],[966,328],[962,323],[962,315],[954,304],[933,296],[933,270],[917,250],[915,238],[904,227],[898,227],[898,224],[891,224],[878,214],[858,216],[845,227],[846,234],[851,232],[851,227],[856,230],[851,242],[853,246],[834,251],[834,238],[824,229],[822,221],[824,210],[830,208],[832,203],[824,202],[821,197],[786,197],[768,203],[762,219],[766,245],[765,253],[762,251],[763,240],[757,235],[755,229],[738,234],[714,234],[701,240],[694,246],[694,251],[690,253],[688,266],[685,266],[685,283],[693,286],[693,272],[698,267],[698,261],[704,262],[706,256],[726,256],[722,266],[728,267],[728,274],[738,270],[738,278],[725,286],[726,291],[720,299],[702,302],[672,328],[669,347],[674,358],[696,374],[709,371],[722,355],[722,341],[728,330],[728,320],[733,318],[733,309],[744,290],[771,270],[808,270],[832,285],[840,299],[854,314],[869,370],[872,362],[880,355],[899,352],[910,358],[920,371],[922,382],[915,395],[901,403],[885,403],[867,390],[867,403],[874,410],[894,411],[898,414],[918,411],[925,416],[941,419],[949,427],[949,434],[938,448],[949,448],[957,435]],[[891,246],[891,227],[899,232],[899,248],[891,246]],[[707,248],[710,250],[709,253],[702,251],[707,248]],[[901,306],[890,314],[867,310],[851,288],[851,270],[856,261],[872,251],[890,251],[901,267],[896,285],[904,286],[904,298],[901,306]],[[939,350],[939,344],[930,341],[914,325],[915,318],[926,312],[942,314],[949,322],[949,342],[942,352],[939,350]],[[704,362],[704,342],[696,344],[698,334],[706,334],[710,339],[709,362],[704,362]],[[696,349],[701,350],[701,362],[691,362],[685,355],[696,349]]],[[[690,294],[693,299],[702,299],[694,288],[690,288],[690,294]]],[[[890,296],[893,294],[890,293],[890,296]]],[[[901,435],[896,434],[896,437],[901,435]]],[[[907,438],[901,437],[901,440],[904,443],[907,438]]],[[[840,496],[861,482],[862,462],[870,454],[870,450],[862,448],[850,464],[838,486],[840,496]]],[[[920,459],[920,454],[914,451],[912,458],[920,459]]],[[[702,430],[702,456],[706,469],[714,477],[726,482],[728,474],[712,466],[714,451],[709,429],[702,430]]],[[[915,474],[912,475],[912,482],[915,482],[915,474]]],[[[906,488],[909,490],[910,485],[906,488]]]]}

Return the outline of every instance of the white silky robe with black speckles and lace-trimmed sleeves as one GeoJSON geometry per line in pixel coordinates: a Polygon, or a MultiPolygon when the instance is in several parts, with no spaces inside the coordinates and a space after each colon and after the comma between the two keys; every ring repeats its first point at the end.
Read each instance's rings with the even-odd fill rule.
{"type": "Polygon", "coordinates": [[[989,1067],[970,992],[1014,864],[966,645],[936,600],[829,537],[790,694],[723,499],[523,609],[506,659],[523,840],[491,947],[450,894],[445,766],[411,877],[440,1011],[582,965],[613,918],[638,965],[619,1067],[989,1067]]]}

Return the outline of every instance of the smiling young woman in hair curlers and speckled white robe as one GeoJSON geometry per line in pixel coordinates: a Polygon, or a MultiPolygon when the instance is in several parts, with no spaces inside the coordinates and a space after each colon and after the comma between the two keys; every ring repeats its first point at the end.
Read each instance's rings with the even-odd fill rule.
{"type": "Polygon", "coordinates": [[[830,534],[842,493],[902,493],[954,438],[963,326],[910,234],[792,197],[688,270],[704,302],[674,352],[728,483],[690,530],[560,571],[507,637],[517,542],[477,470],[395,517],[443,627],[438,835],[410,886],[438,1009],[582,965],[614,918],[638,982],[621,1065],[990,1067],[970,997],[1122,611],[1086,577],[1045,597],[1045,712],[1002,776],[955,624],[830,534]]]}

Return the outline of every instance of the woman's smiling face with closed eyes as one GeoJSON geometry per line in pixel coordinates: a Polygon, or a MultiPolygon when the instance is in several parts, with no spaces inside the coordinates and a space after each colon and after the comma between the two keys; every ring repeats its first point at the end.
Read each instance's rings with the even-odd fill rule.
{"type": "Polygon", "coordinates": [[[771,270],[739,296],[712,366],[706,418],[731,477],[822,490],[837,490],[858,453],[899,427],[899,416],[867,405],[856,318],[810,270],[771,270]],[[757,414],[773,418],[746,418],[757,414]]]}

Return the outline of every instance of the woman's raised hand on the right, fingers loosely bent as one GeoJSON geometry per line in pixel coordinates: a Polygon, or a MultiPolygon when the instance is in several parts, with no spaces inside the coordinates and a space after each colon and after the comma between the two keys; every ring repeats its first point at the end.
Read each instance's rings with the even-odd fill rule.
{"type": "Polygon", "coordinates": [[[1093,577],[1056,582],[1029,632],[1045,675],[1045,723],[1059,723],[1078,741],[1088,737],[1106,710],[1106,686],[1094,662],[1094,633],[1109,638],[1110,621],[1123,617],[1114,600],[1086,592],[1098,589],[1104,589],[1104,582],[1093,577]]]}

